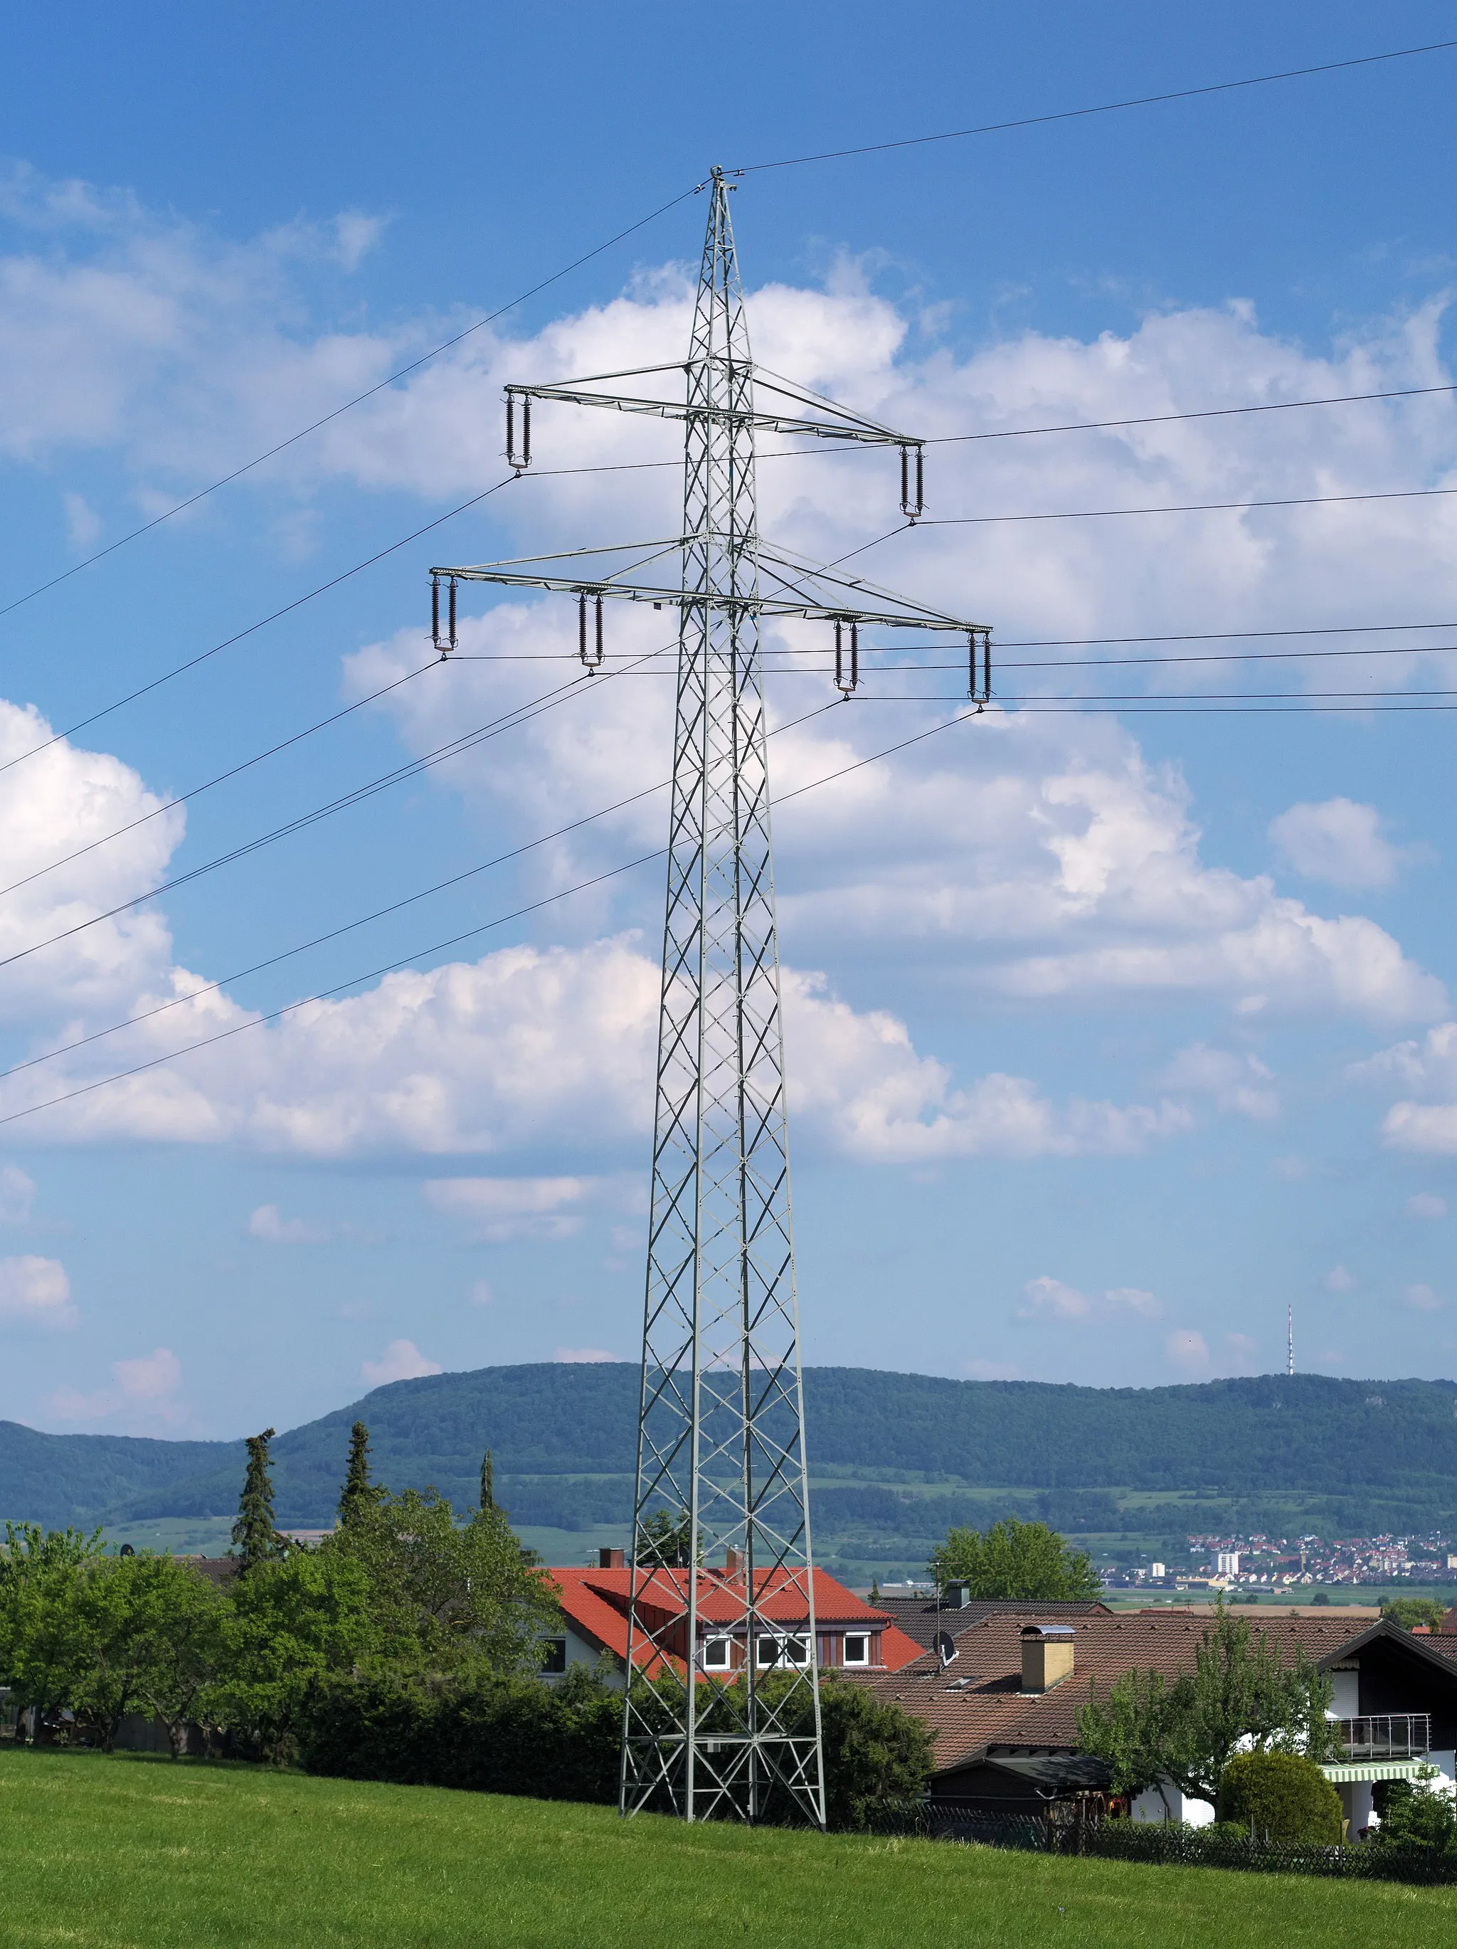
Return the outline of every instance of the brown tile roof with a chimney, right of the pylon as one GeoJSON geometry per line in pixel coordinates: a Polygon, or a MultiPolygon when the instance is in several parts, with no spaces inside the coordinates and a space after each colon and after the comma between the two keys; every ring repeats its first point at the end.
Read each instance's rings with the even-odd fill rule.
{"type": "MultiPolygon", "coordinates": [[[[933,1653],[884,1676],[857,1680],[877,1698],[915,1713],[935,1731],[937,1774],[980,1758],[990,1746],[1069,1752],[1077,1746],[1077,1709],[1087,1703],[1089,1686],[1097,1698],[1126,1670],[1155,1670],[1169,1678],[1194,1668],[1194,1653],[1210,1629],[1210,1618],[1188,1612],[1122,1612],[1091,1618],[1052,1618],[1069,1624],[1073,1672],[1050,1692],[1023,1692],[1021,1629],[1038,1622],[1030,1610],[982,1618],[954,1633],[956,1659],[941,1670],[933,1653]]],[[[1291,1659],[1295,1647],[1321,1661],[1348,1645],[1354,1635],[1344,1620],[1260,1618],[1256,1633],[1291,1659]]],[[[1430,1639],[1428,1639],[1430,1643],[1430,1639]]]]}

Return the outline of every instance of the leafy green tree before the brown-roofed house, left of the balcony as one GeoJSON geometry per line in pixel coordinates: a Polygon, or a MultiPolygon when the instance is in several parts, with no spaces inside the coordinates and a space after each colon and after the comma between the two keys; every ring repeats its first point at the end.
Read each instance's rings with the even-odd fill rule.
{"type": "Polygon", "coordinates": [[[1153,1678],[1126,1674],[1102,1705],[1089,1698],[1077,1715],[1083,1750],[1122,1764],[1130,1781],[1169,1779],[1194,1799],[1214,1801],[1225,1766],[1247,1744],[1315,1762],[1340,1752],[1326,1719],[1330,1680],[1303,1653],[1282,1664],[1268,1633],[1252,1639],[1249,1618],[1219,1608],[1194,1653],[1194,1670],[1169,1688],[1153,1678]]]}

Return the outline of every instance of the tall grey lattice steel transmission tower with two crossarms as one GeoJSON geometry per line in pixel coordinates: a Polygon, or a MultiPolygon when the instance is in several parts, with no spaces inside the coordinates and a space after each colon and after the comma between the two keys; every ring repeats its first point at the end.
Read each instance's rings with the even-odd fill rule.
{"type": "Polygon", "coordinates": [[[834,626],[836,682],[859,686],[861,628],[964,633],[968,690],[990,630],[769,546],[754,435],[900,448],[921,513],[921,440],[820,400],[750,359],[728,191],[713,172],[688,359],[506,388],[506,450],[532,460],[532,401],[686,423],[684,522],[670,540],[434,569],[434,643],[456,647],[456,585],[575,594],[582,665],[606,661],[604,598],[676,606],[668,900],[653,1138],[643,1380],[627,1577],[621,1811],[688,1820],[797,1815],[824,1826],[818,1637],[789,1210],[779,951],[760,618],[834,626]],[[686,376],[682,400],[592,390],[686,376]],[[767,401],[762,396],[767,394],[767,401]],[[621,567],[582,575],[582,557],[621,567]],[[658,563],[678,557],[674,581],[658,563]],[[551,565],[575,573],[549,573],[551,565]],[[653,581],[643,571],[654,569],[653,581]],[[442,626],[440,594],[448,596],[442,626]]]}

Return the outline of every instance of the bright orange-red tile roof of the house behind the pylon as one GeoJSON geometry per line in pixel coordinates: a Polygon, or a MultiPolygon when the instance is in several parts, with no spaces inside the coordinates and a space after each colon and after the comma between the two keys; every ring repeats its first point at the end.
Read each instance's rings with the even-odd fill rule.
{"type": "MultiPolygon", "coordinates": [[[[658,1569],[549,1569],[547,1575],[561,1592],[563,1614],[594,1637],[623,1662],[627,1659],[627,1606],[631,1602],[633,1575],[639,1577],[639,1602],[647,1598],[660,1604],[664,1612],[682,1616],[688,1610],[688,1571],[658,1569]]],[[[896,1629],[882,1610],[875,1610],[847,1590],[826,1571],[814,1571],[814,1622],[820,1631],[841,1631],[863,1625],[880,1631],[880,1664],[886,1670],[900,1670],[919,1655],[919,1645],[896,1629]]],[[[754,1590],[758,1610],[773,1624],[797,1625],[808,1618],[804,1602],[803,1573],[756,1571],[754,1590]]],[[[744,1579],[727,1571],[697,1573],[697,1614],[703,1624],[730,1627],[744,1616],[744,1579]]],[[[658,1655],[643,1643],[633,1647],[633,1662],[649,1678],[662,1670],[658,1655]]],[[[674,1661],[678,1664],[678,1661],[674,1661]]],[[[682,1666],[678,1666],[682,1670],[682,1666]]]]}

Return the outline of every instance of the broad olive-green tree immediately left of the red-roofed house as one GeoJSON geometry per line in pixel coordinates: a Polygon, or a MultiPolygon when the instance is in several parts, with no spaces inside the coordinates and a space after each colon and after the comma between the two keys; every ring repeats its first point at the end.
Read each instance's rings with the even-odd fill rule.
{"type": "Polygon", "coordinates": [[[526,1561],[501,1510],[456,1524],[434,1489],[386,1493],[319,1553],[360,1565],[378,1655],[405,1670],[534,1670],[540,1639],[557,1624],[555,1586],[526,1561]]]}

